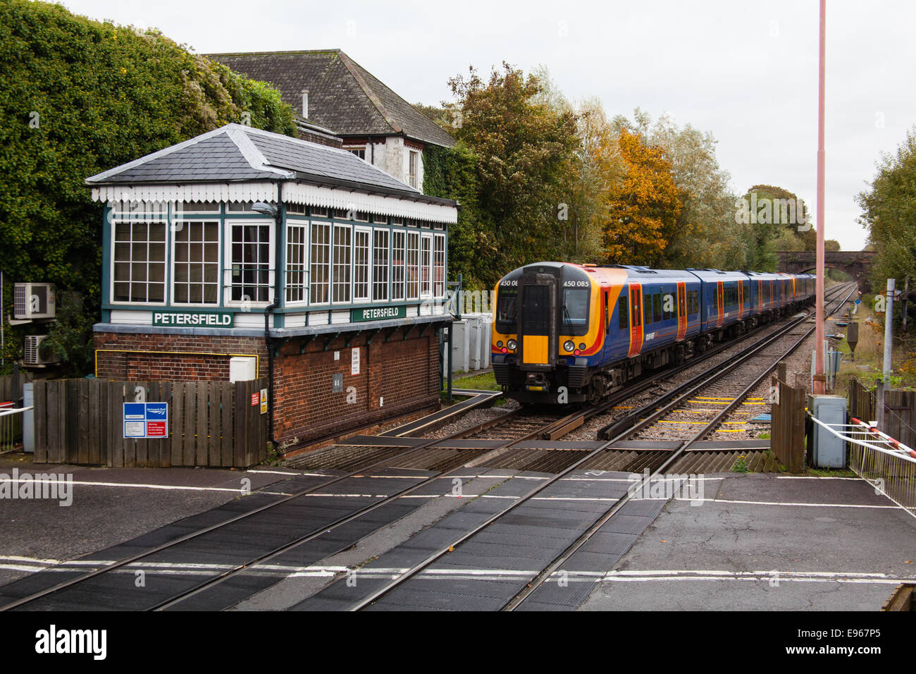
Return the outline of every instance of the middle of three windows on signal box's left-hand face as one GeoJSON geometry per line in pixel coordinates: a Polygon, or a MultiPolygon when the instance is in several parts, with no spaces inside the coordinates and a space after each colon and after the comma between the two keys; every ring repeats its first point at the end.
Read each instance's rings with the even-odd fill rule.
{"type": "Polygon", "coordinates": [[[176,223],[172,260],[176,304],[216,304],[219,293],[220,224],[176,223]]]}

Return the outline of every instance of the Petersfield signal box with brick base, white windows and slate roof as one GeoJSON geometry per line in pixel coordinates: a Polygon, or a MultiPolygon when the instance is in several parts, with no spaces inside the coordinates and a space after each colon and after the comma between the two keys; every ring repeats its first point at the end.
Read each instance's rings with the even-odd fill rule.
{"type": "Polygon", "coordinates": [[[283,447],[438,406],[453,201],[238,125],[86,182],[105,204],[98,377],[267,377],[283,447]]]}

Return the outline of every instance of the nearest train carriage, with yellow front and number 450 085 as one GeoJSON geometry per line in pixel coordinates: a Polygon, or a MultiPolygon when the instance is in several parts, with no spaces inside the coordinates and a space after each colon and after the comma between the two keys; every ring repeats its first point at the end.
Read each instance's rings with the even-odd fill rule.
{"type": "Polygon", "coordinates": [[[701,282],[685,271],[543,262],[496,283],[496,381],[521,403],[595,401],[689,358],[701,282]],[[519,301],[520,300],[520,301],[519,301]]]}

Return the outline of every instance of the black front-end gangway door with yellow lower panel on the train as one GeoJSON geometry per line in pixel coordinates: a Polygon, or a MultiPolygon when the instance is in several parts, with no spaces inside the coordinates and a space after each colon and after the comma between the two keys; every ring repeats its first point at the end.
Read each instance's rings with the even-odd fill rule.
{"type": "Polygon", "coordinates": [[[557,280],[550,274],[524,274],[520,284],[519,365],[522,370],[547,370],[557,351],[557,280]]]}

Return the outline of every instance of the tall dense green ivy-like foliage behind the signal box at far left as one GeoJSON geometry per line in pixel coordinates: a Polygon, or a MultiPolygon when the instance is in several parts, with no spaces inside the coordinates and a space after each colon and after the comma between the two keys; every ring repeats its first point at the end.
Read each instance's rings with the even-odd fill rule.
{"type": "MultiPolygon", "coordinates": [[[[99,312],[102,206],[85,178],[228,122],[295,134],[277,91],[155,30],[2,0],[0,37],[0,269],[7,282],[78,295],[72,305],[88,320],[53,331],[91,325],[99,312]]],[[[8,303],[11,285],[4,292],[8,303]]],[[[21,330],[16,337],[8,359],[21,330]]],[[[65,349],[82,337],[53,340],[74,373],[88,364],[65,349]]]]}

